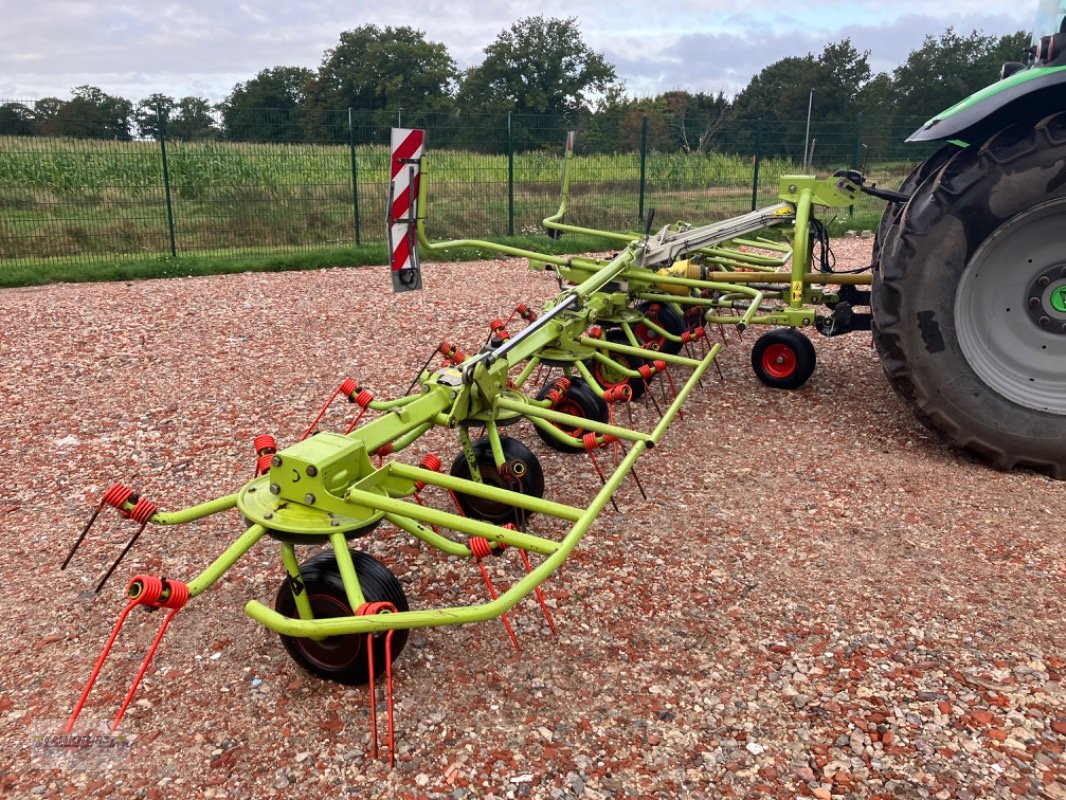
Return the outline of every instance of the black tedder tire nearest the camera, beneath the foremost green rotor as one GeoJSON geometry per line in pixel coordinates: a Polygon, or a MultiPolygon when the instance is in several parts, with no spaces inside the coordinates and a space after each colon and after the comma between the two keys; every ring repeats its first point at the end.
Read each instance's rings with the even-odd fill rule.
{"type": "MultiPolygon", "coordinates": [[[[403,587],[385,564],[361,550],[350,549],[349,553],[352,554],[355,574],[368,603],[386,602],[395,606],[398,611],[408,610],[403,587]]],[[[320,553],[302,563],[300,574],[316,619],[352,615],[333,550],[320,553]]],[[[278,587],[274,610],[285,617],[297,617],[296,601],[288,578],[278,587]]],[[[392,631],[393,661],[407,643],[407,634],[405,629],[392,631]]],[[[385,636],[374,635],[375,675],[384,674],[385,670],[385,636]]],[[[319,677],[350,686],[365,684],[370,677],[366,635],[330,636],[322,641],[284,635],[280,639],[292,660],[319,677]]]]}

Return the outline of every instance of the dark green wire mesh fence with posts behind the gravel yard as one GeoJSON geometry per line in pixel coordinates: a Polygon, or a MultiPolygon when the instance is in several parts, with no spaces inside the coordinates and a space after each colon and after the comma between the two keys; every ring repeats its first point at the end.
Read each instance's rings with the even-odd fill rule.
{"type": "Polygon", "coordinates": [[[0,266],[383,242],[393,124],[427,130],[434,238],[537,233],[558,206],[571,128],[567,220],[605,229],[637,229],[651,209],[659,222],[742,213],[773,202],[805,161],[820,174],[865,165],[894,186],[928,155],[902,145],[920,121],[900,118],[809,133],[805,122],[731,122],[687,154],[649,146],[646,118],[629,146],[615,137],[603,151],[587,118],[268,112],[231,121],[225,141],[0,135],[0,266]]]}

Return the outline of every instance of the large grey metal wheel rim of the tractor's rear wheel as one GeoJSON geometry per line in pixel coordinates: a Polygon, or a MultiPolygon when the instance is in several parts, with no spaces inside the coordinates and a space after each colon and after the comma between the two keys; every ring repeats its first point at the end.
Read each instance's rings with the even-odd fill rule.
{"type": "Polygon", "coordinates": [[[997,228],[959,276],[958,346],[994,391],[1027,409],[1066,415],[1066,198],[997,228]]]}

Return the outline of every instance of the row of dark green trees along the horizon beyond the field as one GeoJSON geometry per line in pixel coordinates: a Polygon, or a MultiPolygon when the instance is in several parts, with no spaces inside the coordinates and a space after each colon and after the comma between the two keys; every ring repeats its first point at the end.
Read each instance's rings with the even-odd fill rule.
{"type": "Polygon", "coordinates": [[[927,35],[890,74],[874,75],[869,51],[844,38],[819,54],[770,64],[731,99],[685,89],[630,97],[574,18],[520,19],[465,71],[422,31],[366,25],[341,33],[317,70],[263,69],[217,105],[165,94],[133,103],[85,85],[66,100],[0,105],[0,134],[348,142],[354,109],[362,141],[379,141],[377,129],[403,118],[432,126],[435,146],[498,150],[510,135],[512,146],[528,149],[555,145],[560,131],[580,126],[585,146],[598,151],[636,149],[647,135],[653,149],[706,153],[722,148],[720,134],[734,123],[762,119],[779,132],[801,125],[808,103],[823,123],[852,123],[859,112],[927,117],[995,80],[1028,46],[1022,31],[963,35],[949,28],[927,35]],[[510,133],[499,124],[508,112],[510,133]]]}

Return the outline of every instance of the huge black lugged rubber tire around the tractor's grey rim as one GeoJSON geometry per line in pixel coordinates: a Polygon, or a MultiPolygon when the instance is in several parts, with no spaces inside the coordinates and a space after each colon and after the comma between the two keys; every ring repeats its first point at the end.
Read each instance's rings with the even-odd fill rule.
{"type": "MultiPolygon", "coordinates": [[[[984,315],[981,327],[990,330],[994,311],[1003,319],[1007,306],[1024,314],[1024,287],[1045,265],[1034,263],[1027,242],[1011,234],[1034,207],[1064,197],[1066,114],[1005,128],[960,150],[919,187],[890,231],[872,298],[882,365],[923,422],[998,468],[1032,466],[1056,478],[1066,478],[1066,413],[1029,407],[992,388],[971,366],[960,339],[974,335],[966,323],[973,315],[984,315]],[[1002,307],[966,308],[956,319],[960,285],[981,276],[985,254],[1002,241],[1017,251],[1010,279],[1016,275],[1019,288],[1004,293],[1002,307]],[[967,273],[971,261],[975,272],[967,273]]],[[[1066,221],[1059,229],[1050,244],[1043,242],[1045,251],[1066,252],[1066,221]]],[[[1063,260],[1046,259],[1048,266],[1063,260]]],[[[988,276],[1003,279],[1001,273],[988,276]]],[[[1040,358],[1066,363],[1066,335],[1049,333],[1044,351],[1040,358]]],[[[1055,403],[1061,409],[1063,400],[1055,403]]]]}

